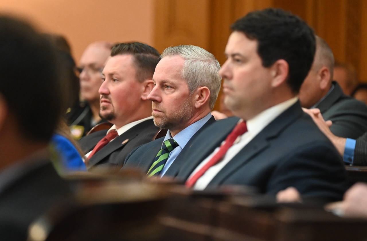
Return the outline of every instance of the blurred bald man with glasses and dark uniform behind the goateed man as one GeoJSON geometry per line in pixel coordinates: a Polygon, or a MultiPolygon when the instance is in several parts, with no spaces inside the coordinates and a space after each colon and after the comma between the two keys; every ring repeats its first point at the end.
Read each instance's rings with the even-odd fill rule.
{"type": "Polygon", "coordinates": [[[73,136],[80,139],[92,127],[103,120],[99,117],[99,93],[102,84],[102,69],[111,53],[111,43],[94,42],[84,51],[80,59],[81,102],[68,113],[68,122],[73,136]]]}

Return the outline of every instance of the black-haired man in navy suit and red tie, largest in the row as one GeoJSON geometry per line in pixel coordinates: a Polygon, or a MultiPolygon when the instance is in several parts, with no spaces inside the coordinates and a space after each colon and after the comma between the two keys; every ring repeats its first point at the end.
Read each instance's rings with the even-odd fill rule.
{"type": "Polygon", "coordinates": [[[269,8],[247,14],[232,30],[219,74],[224,102],[241,120],[230,117],[201,132],[176,179],[195,190],[250,185],[276,195],[292,186],[312,198],[341,200],[342,159],[297,98],[315,54],[312,29],[269,8]]]}

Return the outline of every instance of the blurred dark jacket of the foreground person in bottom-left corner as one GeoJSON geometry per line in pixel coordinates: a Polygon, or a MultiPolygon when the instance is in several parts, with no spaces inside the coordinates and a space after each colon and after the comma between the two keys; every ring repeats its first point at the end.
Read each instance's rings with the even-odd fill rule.
{"type": "Polygon", "coordinates": [[[24,241],[30,223],[72,198],[72,189],[49,160],[33,160],[12,174],[0,191],[0,240],[24,241]]]}

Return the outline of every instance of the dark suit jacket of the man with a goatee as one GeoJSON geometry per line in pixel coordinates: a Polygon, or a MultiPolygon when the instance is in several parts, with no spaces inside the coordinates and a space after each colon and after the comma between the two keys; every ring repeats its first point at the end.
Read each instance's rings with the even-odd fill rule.
{"type": "MultiPolygon", "coordinates": [[[[154,135],[159,130],[153,123],[153,119],[143,121],[130,128],[115,140],[108,143],[101,150],[96,152],[88,162],[87,169],[94,166],[123,166],[127,155],[140,145],[152,141],[154,135]]],[[[108,130],[94,132],[80,139],[81,149],[88,153],[105,137],[108,130]]]]}

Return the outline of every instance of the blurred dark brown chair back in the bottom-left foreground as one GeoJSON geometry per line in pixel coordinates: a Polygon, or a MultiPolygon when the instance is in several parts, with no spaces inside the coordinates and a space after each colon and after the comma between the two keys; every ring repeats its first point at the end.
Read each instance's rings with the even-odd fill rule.
{"type": "Polygon", "coordinates": [[[160,185],[138,177],[87,176],[75,202],[49,210],[30,225],[28,241],[160,240],[158,216],[166,199],[160,185]]]}

